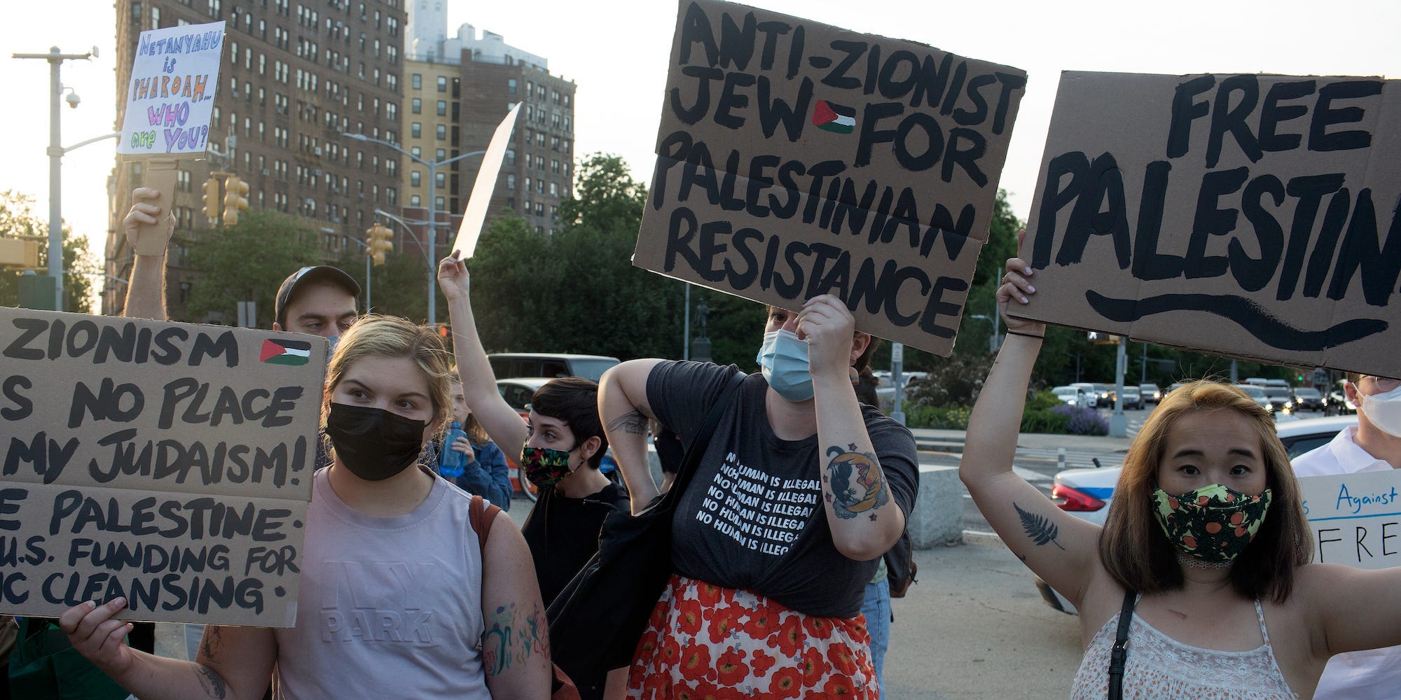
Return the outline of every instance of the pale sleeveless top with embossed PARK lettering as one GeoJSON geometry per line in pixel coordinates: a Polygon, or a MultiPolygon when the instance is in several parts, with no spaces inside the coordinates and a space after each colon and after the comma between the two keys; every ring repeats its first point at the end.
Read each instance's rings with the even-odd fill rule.
{"type": "Polygon", "coordinates": [[[413,512],[375,518],[317,472],[297,626],[275,631],[277,697],[490,700],[471,498],[434,476],[413,512]]]}

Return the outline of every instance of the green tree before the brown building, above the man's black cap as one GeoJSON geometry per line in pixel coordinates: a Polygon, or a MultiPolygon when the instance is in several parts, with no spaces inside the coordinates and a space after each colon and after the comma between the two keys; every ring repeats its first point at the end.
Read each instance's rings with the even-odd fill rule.
{"type": "Polygon", "coordinates": [[[258,328],[272,328],[282,280],[298,267],[324,262],[318,234],[279,211],[255,211],[241,216],[237,225],[196,231],[189,255],[196,276],[175,321],[230,322],[240,301],[254,301],[258,328]]]}

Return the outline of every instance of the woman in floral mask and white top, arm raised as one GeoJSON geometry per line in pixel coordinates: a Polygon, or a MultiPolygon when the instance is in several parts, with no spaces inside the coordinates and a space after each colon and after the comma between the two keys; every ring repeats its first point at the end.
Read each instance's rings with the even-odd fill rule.
{"type": "MultiPolygon", "coordinates": [[[[1026,262],[1006,270],[1003,314],[1035,294],[1026,262]]],[[[1309,563],[1313,533],[1274,421],[1231,385],[1163,399],[1103,531],[1056,508],[1012,470],[1045,326],[1005,319],[960,476],[1007,547],[1079,609],[1072,697],[1313,697],[1328,657],[1401,643],[1401,568],[1309,563]],[[1126,648],[1121,673],[1115,647],[1126,648]]]]}

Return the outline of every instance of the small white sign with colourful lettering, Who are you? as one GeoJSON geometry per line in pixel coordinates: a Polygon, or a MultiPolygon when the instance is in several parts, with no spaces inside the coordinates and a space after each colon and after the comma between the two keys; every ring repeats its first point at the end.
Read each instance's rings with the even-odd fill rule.
{"type": "Polygon", "coordinates": [[[224,22],[142,32],[116,153],[203,157],[223,53],[224,22]]]}

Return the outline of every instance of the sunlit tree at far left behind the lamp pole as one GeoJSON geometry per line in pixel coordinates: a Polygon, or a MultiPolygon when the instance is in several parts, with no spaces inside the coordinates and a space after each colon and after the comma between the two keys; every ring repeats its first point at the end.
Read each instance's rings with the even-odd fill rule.
{"type": "MultiPolygon", "coordinates": [[[[15,190],[0,192],[0,238],[48,237],[49,223],[34,211],[34,195],[15,190]]],[[[102,276],[102,266],[88,251],[88,241],[63,225],[63,311],[92,312],[94,280],[102,276]]],[[[39,241],[39,273],[48,272],[49,246],[39,241]]],[[[20,269],[0,269],[0,307],[20,304],[20,269]]]]}

